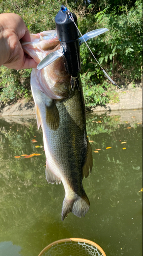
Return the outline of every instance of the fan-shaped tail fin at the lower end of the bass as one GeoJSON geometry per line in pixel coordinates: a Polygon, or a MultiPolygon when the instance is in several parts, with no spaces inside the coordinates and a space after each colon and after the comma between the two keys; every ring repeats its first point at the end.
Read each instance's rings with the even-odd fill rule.
{"type": "Polygon", "coordinates": [[[72,212],[74,215],[81,218],[82,214],[85,216],[89,208],[90,201],[86,194],[84,194],[82,197],[77,196],[76,199],[72,200],[65,197],[62,208],[62,221],[68,216],[69,212],[72,212]]]}

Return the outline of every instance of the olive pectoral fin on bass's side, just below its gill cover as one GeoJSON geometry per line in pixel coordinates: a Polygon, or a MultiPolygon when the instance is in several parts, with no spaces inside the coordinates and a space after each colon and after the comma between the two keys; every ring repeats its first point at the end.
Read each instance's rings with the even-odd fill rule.
{"type": "Polygon", "coordinates": [[[46,122],[51,130],[56,130],[60,124],[59,111],[56,108],[54,100],[49,105],[46,105],[46,122]]]}

